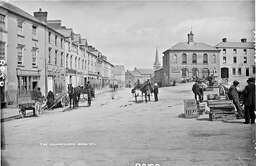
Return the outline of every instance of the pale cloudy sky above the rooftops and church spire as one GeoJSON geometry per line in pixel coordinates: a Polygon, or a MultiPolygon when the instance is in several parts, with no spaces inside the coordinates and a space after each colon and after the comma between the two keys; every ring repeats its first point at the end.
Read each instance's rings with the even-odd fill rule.
{"type": "Polygon", "coordinates": [[[140,0],[140,1],[13,1],[7,2],[33,15],[42,8],[48,20],[62,20],[114,65],[125,69],[152,68],[156,47],[162,52],[187,42],[215,46],[222,38],[254,41],[254,0],[140,0]]]}

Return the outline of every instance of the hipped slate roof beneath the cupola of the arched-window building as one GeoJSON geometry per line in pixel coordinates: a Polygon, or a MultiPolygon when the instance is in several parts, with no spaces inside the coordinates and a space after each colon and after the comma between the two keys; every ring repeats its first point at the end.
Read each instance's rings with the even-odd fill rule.
{"type": "MultiPolygon", "coordinates": [[[[194,43],[194,44],[188,44],[186,42],[180,42],[168,49],[170,51],[219,51],[213,46],[207,45],[205,43],[194,43]]],[[[166,51],[168,51],[166,50],[166,51]]]]}

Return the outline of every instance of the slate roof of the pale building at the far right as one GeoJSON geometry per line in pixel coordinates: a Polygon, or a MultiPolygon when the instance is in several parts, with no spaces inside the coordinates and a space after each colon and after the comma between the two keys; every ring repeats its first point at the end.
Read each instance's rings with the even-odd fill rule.
{"type": "Polygon", "coordinates": [[[250,48],[254,49],[254,42],[220,42],[216,48],[250,48]]]}

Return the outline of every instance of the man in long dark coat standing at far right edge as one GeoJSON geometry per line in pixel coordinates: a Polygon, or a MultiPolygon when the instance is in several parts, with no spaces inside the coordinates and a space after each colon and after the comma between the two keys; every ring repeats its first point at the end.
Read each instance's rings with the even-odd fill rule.
{"type": "Polygon", "coordinates": [[[245,124],[255,123],[255,79],[249,78],[247,80],[248,85],[243,90],[244,95],[244,118],[245,124]]]}

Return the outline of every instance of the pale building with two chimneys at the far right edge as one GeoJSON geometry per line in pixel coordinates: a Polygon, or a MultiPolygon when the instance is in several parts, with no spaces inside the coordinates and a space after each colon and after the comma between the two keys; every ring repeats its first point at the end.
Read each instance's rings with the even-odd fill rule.
{"type": "Polygon", "coordinates": [[[221,78],[255,77],[254,42],[228,42],[223,38],[215,47],[220,50],[221,78]]]}

